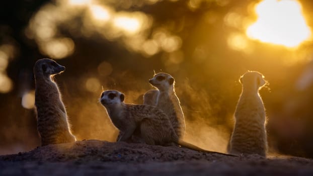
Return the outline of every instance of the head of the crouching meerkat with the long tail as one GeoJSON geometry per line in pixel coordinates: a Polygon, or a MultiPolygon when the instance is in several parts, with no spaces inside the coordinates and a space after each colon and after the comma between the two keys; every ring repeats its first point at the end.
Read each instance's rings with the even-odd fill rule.
{"type": "Polygon", "coordinates": [[[106,107],[109,105],[122,104],[124,102],[124,99],[125,99],[124,94],[115,90],[109,90],[109,91],[104,91],[101,94],[100,102],[104,107],[106,107]]]}

